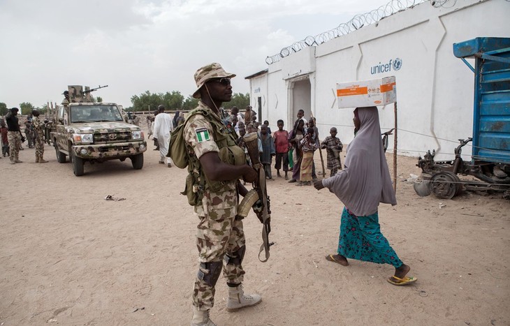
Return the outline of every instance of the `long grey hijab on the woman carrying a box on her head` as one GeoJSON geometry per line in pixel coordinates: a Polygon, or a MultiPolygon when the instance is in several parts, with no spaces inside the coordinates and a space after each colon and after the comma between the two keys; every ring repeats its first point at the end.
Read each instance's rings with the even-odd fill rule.
{"type": "Polygon", "coordinates": [[[356,110],[360,130],[347,149],[344,170],[323,179],[322,184],[354,215],[369,216],[377,212],[379,202],[397,205],[397,199],[384,156],[377,107],[356,110]]]}

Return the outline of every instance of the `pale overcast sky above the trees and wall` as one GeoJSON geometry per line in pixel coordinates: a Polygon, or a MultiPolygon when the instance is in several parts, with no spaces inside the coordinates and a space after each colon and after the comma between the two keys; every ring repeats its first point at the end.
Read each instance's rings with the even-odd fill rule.
{"type": "Polygon", "coordinates": [[[249,92],[265,58],[390,0],[0,0],[0,102],[60,103],[68,84],[108,88],[131,106],[145,91],[195,91],[193,74],[219,62],[249,92]]]}

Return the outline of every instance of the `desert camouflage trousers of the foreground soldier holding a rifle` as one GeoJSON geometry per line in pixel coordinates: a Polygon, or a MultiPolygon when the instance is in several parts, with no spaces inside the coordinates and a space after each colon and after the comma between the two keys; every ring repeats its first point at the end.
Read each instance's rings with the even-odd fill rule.
{"type": "MultiPolygon", "coordinates": [[[[196,236],[199,262],[222,262],[226,282],[242,283],[245,271],[242,269],[241,259],[226,263],[229,255],[232,257],[235,255],[233,253],[245,246],[242,221],[235,220],[238,208],[237,192],[212,194],[205,191],[201,208],[203,214],[199,214],[200,223],[196,236]]],[[[203,277],[200,277],[200,274],[209,272],[199,266],[194,283],[193,304],[200,310],[208,310],[214,306],[214,286],[210,286],[203,277]]]]}

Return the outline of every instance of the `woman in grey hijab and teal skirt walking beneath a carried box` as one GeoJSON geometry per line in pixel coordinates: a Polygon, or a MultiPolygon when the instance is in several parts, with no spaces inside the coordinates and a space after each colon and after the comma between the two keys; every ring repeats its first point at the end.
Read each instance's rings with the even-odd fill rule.
{"type": "Polygon", "coordinates": [[[345,205],[337,254],[326,259],[342,266],[349,265],[347,258],[390,264],[395,275],[389,283],[413,283],[416,278],[406,276],[411,267],[398,258],[379,225],[379,202],[397,205],[397,200],[384,156],[377,107],[356,108],[354,127],[357,133],[347,149],[344,170],[314,183],[318,190],[328,188],[345,205]]]}

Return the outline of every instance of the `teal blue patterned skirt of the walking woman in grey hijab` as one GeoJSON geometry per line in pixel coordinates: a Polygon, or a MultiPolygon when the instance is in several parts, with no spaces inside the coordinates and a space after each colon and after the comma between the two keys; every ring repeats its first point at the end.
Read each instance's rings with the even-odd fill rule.
{"type": "Polygon", "coordinates": [[[390,264],[395,268],[403,265],[388,240],[381,233],[379,215],[356,216],[344,207],[340,223],[338,253],[347,258],[390,264]]]}

